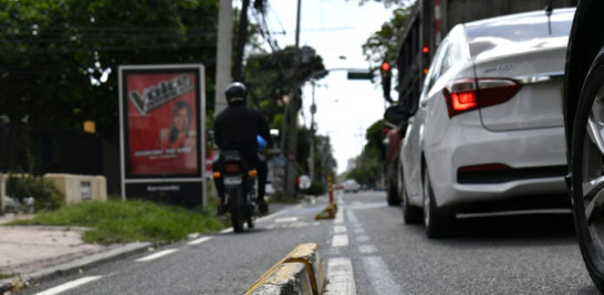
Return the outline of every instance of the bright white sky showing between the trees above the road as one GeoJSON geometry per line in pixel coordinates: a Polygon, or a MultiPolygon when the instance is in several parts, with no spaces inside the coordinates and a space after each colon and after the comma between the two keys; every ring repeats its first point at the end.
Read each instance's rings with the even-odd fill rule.
{"type": "MultiPolygon", "coordinates": [[[[279,48],[295,44],[296,0],[268,0],[268,25],[279,48]]],[[[362,44],[392,17],[384,4],[357,0],[302,0],[300,46],[313,48],[325,69],[368,70],[362,44]]],[[[314,89],[317,134],[329,135],[337,160],[337,172],[358,156],[366,144],[365,130],[384,115],[385,101],[379,84],[348,81],[346,71],[333,71],[314,89]]],[[[376,73],[377,75],[377,73],[376,73]]],[[[379,81],[377,78],[376,81],[379,81]]],[[[300,123],[310,128],[312,87],[303,88],[300,123]]]]}

